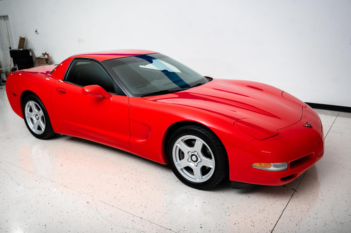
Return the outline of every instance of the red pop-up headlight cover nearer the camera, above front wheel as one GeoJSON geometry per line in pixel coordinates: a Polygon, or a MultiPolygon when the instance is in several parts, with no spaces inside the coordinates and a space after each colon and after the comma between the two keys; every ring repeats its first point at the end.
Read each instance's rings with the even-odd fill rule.
{"type": "Polygon", "coordinates": [[[259,140],[278,135],[278,131],[273,129],[271,126],[251,118],[240,119],[234,122],[234,126],[259,140]]]}

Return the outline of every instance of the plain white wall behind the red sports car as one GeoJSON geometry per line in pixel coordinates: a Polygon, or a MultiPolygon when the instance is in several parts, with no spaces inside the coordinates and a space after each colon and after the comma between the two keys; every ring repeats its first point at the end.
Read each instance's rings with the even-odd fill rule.
{"type": "Polygon", "coordinates": [[[54,63],[94,50],[150,49],[203,75],[351,107],[349,0],[2,0],[1,14],[15,38],[26,36],[27,47],[54,63]]]}

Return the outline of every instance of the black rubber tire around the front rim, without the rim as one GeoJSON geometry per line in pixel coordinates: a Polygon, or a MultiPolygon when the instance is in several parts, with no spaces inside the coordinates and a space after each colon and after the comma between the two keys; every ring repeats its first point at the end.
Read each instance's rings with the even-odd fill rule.
{"type": "Polygon", "coordinates": [[[229,165],[228,165],[228,156],[224,145],[221,143],[220,139],[214,134],[211,130],[196,126],[196,125],[187,125],[179,128],[176,130],[172,136],[170,137],[167,148],[166,148],[166,155],[168,158],[168,162],[172,167],[173,173],[178,177],[180,181],[184,184],[200,190],[211,189],[212,187],[216,186],[220,183],[228,174],[229,172],[229,165]],[[211,149],[213,153],[213,159],[215,162],[214,171],[209,179],[204,182],[196,183],[186,179],[177,169],[176,165],[174,164],[173,160],[173,146],[178,141],[179,138],[192,135],[200,138],[204,141],[208,147],[211,149]]]}

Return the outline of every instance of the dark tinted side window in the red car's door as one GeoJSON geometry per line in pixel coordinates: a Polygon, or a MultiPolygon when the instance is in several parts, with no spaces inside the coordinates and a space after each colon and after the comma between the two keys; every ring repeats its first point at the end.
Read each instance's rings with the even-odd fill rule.
{"type": "Polygon", "coordinates": [[[74,59],[71,66],[68,68],[65,81],[81,87],[99,85],[107,92],[115,94],[113,81],[110,75],[95,61],[74,59]]]}

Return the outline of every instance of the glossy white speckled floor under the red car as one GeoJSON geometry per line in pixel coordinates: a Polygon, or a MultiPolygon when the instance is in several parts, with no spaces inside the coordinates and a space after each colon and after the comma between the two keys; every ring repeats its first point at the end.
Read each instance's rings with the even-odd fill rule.
{"type": "Polygon", "coordinates": [[[324,157],[291,183],[199,191],[168,165],[79,138],[34,138],[5,89],[0,110],[0,232],[351,231],[351,113],[316,110],[324,157]]]}

